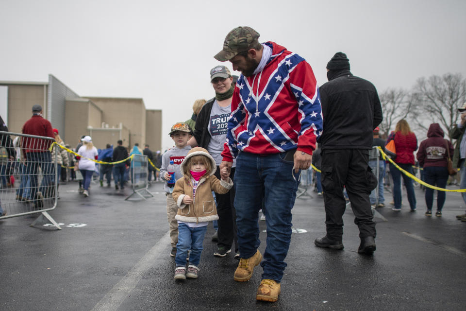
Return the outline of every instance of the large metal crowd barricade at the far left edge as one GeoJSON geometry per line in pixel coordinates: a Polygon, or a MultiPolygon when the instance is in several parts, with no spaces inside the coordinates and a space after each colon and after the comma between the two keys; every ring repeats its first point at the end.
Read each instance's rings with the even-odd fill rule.
{"type": "Polygon", "coordinates": [[[2,158],[0,163],[0,206],[6,212],[3,216],[0,214],[0,220],[40,213],[31,226],[44,222],[45,217],[61,229],[48,213],[57,206],[58,197],[58,148],[49,150],[55,140],[2,131],[0,138],[0,148],[11,155],[6,160],[2,158]]]}

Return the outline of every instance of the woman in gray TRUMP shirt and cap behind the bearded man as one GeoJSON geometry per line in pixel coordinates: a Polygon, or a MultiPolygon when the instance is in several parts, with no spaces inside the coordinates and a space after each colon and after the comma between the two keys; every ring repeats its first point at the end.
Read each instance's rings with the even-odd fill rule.
{"type": "MultiPolygon", "coordinates": [[[[216,66],[210,70],[210,82],[215,90],[215,98],[207,101],[196,118],[194,135],[188,141],[191,147],[207,149],[215,159],[217,170],[215,176],[220,179],[219,165],[221,153],[227,137],[228,119],[232,113],[231,104],[234,86],[232,74],[225,66],[216,66]]],[[[235,162],[230,177],[234,177],[235,162]]],[[[234,188],[226,194],[216,193],[218,212],[218,247],[214,256],[224,257],[230,253],[233,242],[236,246],[236,213],[233,207],[234,188]]],[[[236,256],[235,256],[236,258],[236,256]]],[[[239,256],[237,257],[239,259],[239,256]]]]}

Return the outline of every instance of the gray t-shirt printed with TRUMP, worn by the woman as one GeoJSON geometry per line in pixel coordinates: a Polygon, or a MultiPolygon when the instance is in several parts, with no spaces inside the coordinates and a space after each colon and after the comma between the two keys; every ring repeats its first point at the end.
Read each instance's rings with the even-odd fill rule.
{"type": "MultiPolygon", "coordinates": [[[[209,126],[207,130],[211,136],[207,151],[215,160],[216,165],[222,163],[221,153],[223,144],[227,140],[228,120],[232,114],[232,106],[220,107],[217,101],[214,102],[210,112],[209,126]]],[[[233,159],[233,167],[236,166],[236,160],[233,159]]]]}

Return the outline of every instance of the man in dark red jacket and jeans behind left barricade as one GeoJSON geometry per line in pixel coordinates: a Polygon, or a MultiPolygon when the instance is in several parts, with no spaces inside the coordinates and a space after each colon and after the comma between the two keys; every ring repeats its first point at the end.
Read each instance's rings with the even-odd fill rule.
{"type": "Polygon", "coordinates": [[[50,144],[55,140],[50,121],[42,118],[41,105],[33,105],[33,116],[23,125],[23,134],[44,136],[53,138],[47,140],[43,138],[23,137],[21,145],[27,159],[27,174],[31,176],[31,198],[35,199],[35,207],[42,207],[43,194],[46,187],[51,187],[51,180],[55,166],[52,165],[52,157],[49,151],[50,144]],[[42,184],[39,190],[37,184],[37,172],[39,166],[42,169],[42,184]]]}

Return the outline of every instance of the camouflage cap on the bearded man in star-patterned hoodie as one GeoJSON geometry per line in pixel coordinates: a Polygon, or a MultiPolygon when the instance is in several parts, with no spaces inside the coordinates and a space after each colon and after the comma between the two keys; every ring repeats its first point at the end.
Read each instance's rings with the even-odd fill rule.
{"type": "Polygon", "coordinates": [[[259,36],[259,33],[251,27],[236,27],[225,37],[223,50],[218,52],[214,58],[225,62],[232,59],[239,52],[255,48],[259,44],[259,36]]]}

